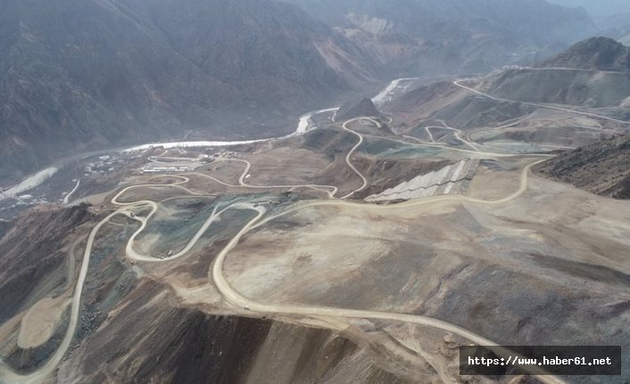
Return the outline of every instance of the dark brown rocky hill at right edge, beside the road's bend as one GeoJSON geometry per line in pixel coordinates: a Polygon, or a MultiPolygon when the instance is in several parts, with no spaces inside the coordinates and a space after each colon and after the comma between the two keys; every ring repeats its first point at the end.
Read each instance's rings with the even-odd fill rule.
{"type": "Polygon", "coordinates": [[[630,199],[630,135],[603,140],[545,161],[544,176],[615,199],[630,199]]]}

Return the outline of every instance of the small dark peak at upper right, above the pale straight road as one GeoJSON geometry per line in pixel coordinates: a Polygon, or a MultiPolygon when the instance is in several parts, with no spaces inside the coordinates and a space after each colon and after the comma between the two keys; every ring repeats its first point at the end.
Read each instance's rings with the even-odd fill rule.
{"type": "Polygon", "coordinates": [[[592,37],[543,61],[538,67],[630,72],[630,47],[608,37],[592,37]]]}

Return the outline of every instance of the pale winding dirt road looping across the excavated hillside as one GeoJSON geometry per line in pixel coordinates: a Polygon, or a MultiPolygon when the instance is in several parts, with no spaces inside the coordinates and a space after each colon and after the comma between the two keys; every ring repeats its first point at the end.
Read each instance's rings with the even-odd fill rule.
{"type": "MultiPolygon", "coordinates": [[[[528,166],[524,167],[521,173],[520,184],[519,184],[518,190],[500,200],[479,200],[479,199],[474,199],[474,198],[470,198],[468,196],[462,196],[462,195],[439,195],[439,196],[432,196],[432,197],[421,199],[421,200],[410,200],[410,201],[397,204],[397,205],[371,205],[371,204],[360,203],[360,202],[352,202],[345,199],[351,197],[356,192],[360,192],[368,184],[368,180],[366,179],[366,177],[363,176],[361,172],[352,165],[352,154],[363,143],[363,135],[353,131],[352,129],[348,127],[348,125],[352,123],[353,121],[357,121],[361,119],[369,120],[372,123],[376,124],[378,127],[380,127],[380,124],[373,118],[354,118],[344,123],[343,128],[345,131],[348,131],[352,133],[352,135],[356,135],[359,137],[358,143],[356,143],[352,147],[352,150],[347,153],[345,157],[345,162],[348,165],[348,167],[352,168],[353,172],[355,172],[358,176],[361,177],[362,185],[360,188],[345,195],[343,198],[341,198],[341,200],[335,200],[335,195],[338,192],[338,189],[337,187],[331,186],[331,185],[295,184],[295,185],[262,186],[262,185],[246,184],[245,177],[248,175],[252,167],[251,163],[249,163],[246,160],[234,160],[234,161],[239,161],[245,164],[245,170],[238,178],[238,185],[222,182],[219,179],[216,179],[212,176],[192,173],[192,174],[187,174],[186,176],[170,176],[170,177],[175,177],[179,179],[178,182],[175,182],[172,184],[137,184],[137,185],[131,185],[131,186],[125,187],[122,190],[120,190],[120,192],[118,192],[112,198],[112,204],[117,205],[120,208],[112,212],[107,217],[104,217],[102,221],[100,221],[97,225],[95,225],[95,227],[92,229],[92,231],[90,232],[87,238],[87,245],[84,252],[83,260],[81,262],[79,277],[78,277],[75,291],[74,291],[72,301],[71,301],[70,324],[68,326],[68,329],[65,333],[64,338],[62,339],[62,343],[60,347],[57,348],[57,350],[54,352],[54,355],[52,355],[50,360],[44,366],[38,369],[37,372],[32,372],[30,374],[19,374],[17,372],[13,372],[9,366],[4,364],[4,362],[0,361],[0,382],[7,383],[7,384],[9,383],[40,383],[52,377],[52,375],[54,374],[54,371],[56,370],[56,367],[62,361],[63,356],[68,351],[68,348],[70,347],[70,343],[72,339],[74,338],[74,334],[77,329],[77,325],[79,322],[80,300],[81,300],[81,295],[84,290],[85,282],[87,279],[87,271],[89,267],[90,257],[92,256],[92,250],[94,248],[95,238],[97,234],[99,233],[99,231],[102,229],[102,227],[105,224],[107,224],[113,217],[116,217],[118,215],[130,217],[140,222],[140,227],[128,239],[127,246],[125,249],[127,257],[135,259],[135,260],[143,261],[143,262],[155,263],[155,262],[168,262],[175,258],[186,255],[191,249],[195,247],[195,244],[197,243],[197,241],[201,239],[203,234],[206,233],[211,228],[211,225],[214,222],[216,222],[217,219],[220,218],[221,214],[226,212],[228,209],[253,210],[257,213],[256,217],[253,217],[253,219],[251,219],[228,242],[228,245],[226,245],[226,247],[220,251],[220,254],[215,258],[215,261],[211,266],[211,270],[208,273],[209,278],[216,284],[218,290],[220,290],[220,293],[232,305],[237,306],[237,307],[246,306],[246,307],[249,307],[250,311],[254,313],[259,313],[259,314],[283,314],[283,315],[300,315],[300,316],[304,315],[304,316],[324,316],[324,317],[339,317],[339,318],[369,318],[369,319],[381,319],[381,320],[395,321],[395,322],[402,322],[402,323],[413,323],[413,324],[435,327],[443,331],[449,331],[454,334],[460,335],[460,337],[462,338],[469,339],[470,341],[480,344],[480,345],[496,346],[496,343],[494,343],[490,339],[486,339],[484,336],[481,336],[472,331],[466,330],[458,325],[444,322],[442,320],[424,316],[424,315],[409,315],[409,314],[400,314],[400,313],[356,310],[356,309],[336,308],[336,307],[327,307],[327,306],[273,305],[273,304],[257,302],[250,298],[245,298],[239,292],[234,290],[230,286],[226,277],[224,276],[223,264],[225,262],[225,259],[228,256],[229,251],[231,249],[234,249],[234,247],[236,247],[236,244],[238,243],[238,241],[240,241],[243,238],[245,233],[248,233],[254,228],[260,227],[261,225],[269,223],[269,221],[271,220],[275,220],[278,217],[289,215],[297,210],[310,208],[310,207],[319,207],[319,206],[339,206],[339,207],[351,207],[351,208],[361,208],[361,209],[368,209],[368,210],[387,211],[387,210],[396,210],[396,209],[406,209],[406,208],[411,208],[411,207],[417,208],[419,206],[429,205],[435,202],[443,202],[443,201],[449,201],[453,203],[468,202],[468,203],[477,203],[477,204],[502,204],[502,203],[510,202],[511,200],[515,200],[524,192],[526,192],[527,182],[528,182],[528,172],[530,168],[533,167],[535,164],[538,164],[539,162],[543,161],[543,160],[539,160],[539,161],[536,161],[535,163],[529,164],[528,166]],[[330,200],[317,200],[317,201],[311,201],[311,202],[306,202],[306,203],[298,203],[296,206],[294,206],[294,208],[289,208],[286,211],[272,217],[266,217],[264,220],[262,218],[266,214],[266,208],[264,208],[261,205],[254,206],[252,203],[236,202],[229,205],[226,208],[222,208],[221,210],[219,210],[218,207],[215,207],[213,211],[211,212],[210,217],[208,217],[208,219],[204,222],[202,227],[195,233],[193,238],[187,242],[187,245],[183,249],[181,249],[177,254],[161,259],[161,258],[141,255],[137,253],[137,251],[133,248],[133,244],[137,236],[143,231],[145,231],[147,223],[153,217],[157,209],[159,209],[159,206],[158,206],[158,203],[153,200],[139,200],[139,201],[129,201],[129,202],[120,201],[121,196],[124,195],[126,192],[130,191],[131,189],[145,188],[145,187],[178,188],[187,193],[190,193],[191,196],[203,196],[202,194],[191,191],[190,189],[184,186],[184,184],[187,184],[189,182],[189,179],[187,176],[191,176],[191,175],[204,176],[211,179],[212,181],[216,183],[229,186],[229,187],[234,187],[234,188],[253,188],[253,189],[300,188],[300,187],[312,188],[312,189],[319,190],[321,192],[327,192],[327,195],[330,198],[330,200]],[[139,216],[137,214],[139,211],[145,211],[147,208],[149,208],[150,211],[148,214],[145,214],[145,216],[139,216]]],[[[479,153],[479,152],[476,152],[476,153],[479,153]]],[[[497,156],[497,155],[499,154],[493,154],[493,156],[497,156]]],[[[502,155],[502,156],[509,156],[509,155],[502,155]]],[[[507,355],[510,353],[510,351],[507,351],[505,349],[498,349],[497,352],[502,355],[507,355]]],[[[533,372],[533,373],[541,373],[541,372],[533,372]]],[[[555,378],[553,376],[539,376],[538,379],[548,384],[559,384],[563,382],[562,380],[555,378]]]]}

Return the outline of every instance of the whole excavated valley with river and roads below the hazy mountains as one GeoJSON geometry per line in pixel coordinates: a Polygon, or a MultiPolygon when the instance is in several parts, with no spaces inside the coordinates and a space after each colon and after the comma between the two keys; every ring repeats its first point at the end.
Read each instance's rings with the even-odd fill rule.
{"type": "Polygon", "coordinates": [[[228,380],[228,361],[230,382],[598,382],[458,371],[470,343],[630,346],[626,201],[537,171],[630,122],[623,100],[502,92],[545,70],[569,69],[397,79],[293,134],[90,152],[7,189],[0,251],[49,249],[49,268],[0,260],[0,382],[228,380]],[[63,218],[56,247],[33,238],[34,216],[63,218]]]}

